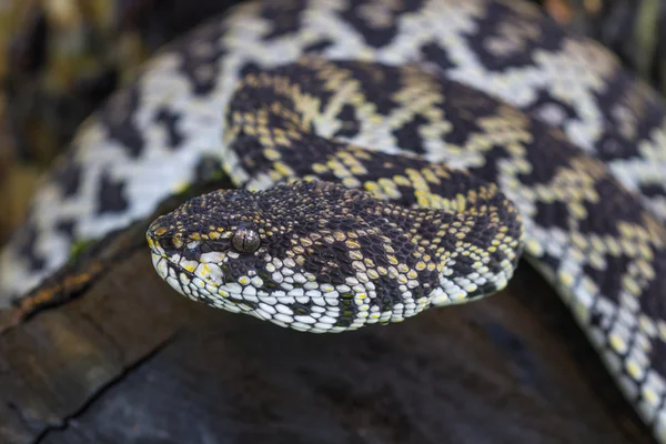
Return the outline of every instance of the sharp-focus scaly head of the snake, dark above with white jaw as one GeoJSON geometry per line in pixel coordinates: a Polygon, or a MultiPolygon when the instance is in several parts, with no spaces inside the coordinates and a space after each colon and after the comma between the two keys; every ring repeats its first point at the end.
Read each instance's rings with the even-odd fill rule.
{"type": "Polygon", "coordinates": [[[155,270],[183,295],[282,326],[337,332],[500,290],[519,255],[508,234],[494,216],[292,182],[192,199],[147,236],[155,270]],[[497,238],[504,248],[495,253],[480,248],[497,238]]]}

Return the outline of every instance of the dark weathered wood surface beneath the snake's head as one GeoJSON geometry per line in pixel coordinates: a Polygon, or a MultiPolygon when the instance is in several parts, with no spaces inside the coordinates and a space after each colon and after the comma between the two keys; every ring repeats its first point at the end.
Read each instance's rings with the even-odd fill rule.
{"type": "Polygon", "coordinates": [[[178,295],[143,229],[0,335],[0,443],[652,442],[525,264],[485,301],[314,335],[178,295]]]}

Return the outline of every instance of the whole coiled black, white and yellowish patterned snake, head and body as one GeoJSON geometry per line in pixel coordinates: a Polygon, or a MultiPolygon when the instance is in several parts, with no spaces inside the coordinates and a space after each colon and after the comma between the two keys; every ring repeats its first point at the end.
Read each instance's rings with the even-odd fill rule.
{"type": "Polygon", "coordinates": [[[522,0],[243,2],[82,123],[0,305],[211,162],[236,189],[147,233],[178,292],[344,332],[483,299],[525,258],[666,443],[666,105],[598,43],[522,0]]]}

